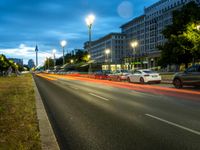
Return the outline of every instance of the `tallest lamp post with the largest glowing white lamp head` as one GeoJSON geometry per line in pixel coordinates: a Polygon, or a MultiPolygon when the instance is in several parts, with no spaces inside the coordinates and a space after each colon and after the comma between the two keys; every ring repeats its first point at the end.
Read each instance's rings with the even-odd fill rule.
{"type": "MultiPolygon", "coordinates": [[[[85,19],[87,27],[88,27],[88,34],[89,34],[89,47],[88,47],[88,53],[89,55],[91,54],[91,40],[92,40],[92,25],[94,23],[95,16],[94,15],[89,15],[85,19]]],[[[91,63],[89,64],[89,72],[92,71],[92,66],[91,63]]]]}

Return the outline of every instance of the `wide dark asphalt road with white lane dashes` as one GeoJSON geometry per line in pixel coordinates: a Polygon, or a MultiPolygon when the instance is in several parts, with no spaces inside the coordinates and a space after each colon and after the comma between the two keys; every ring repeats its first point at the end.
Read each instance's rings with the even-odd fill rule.
{"type": "Polygon", "coordinates": [[[199,101],[34,78],[62,150],[200,150],[199,101]]]}

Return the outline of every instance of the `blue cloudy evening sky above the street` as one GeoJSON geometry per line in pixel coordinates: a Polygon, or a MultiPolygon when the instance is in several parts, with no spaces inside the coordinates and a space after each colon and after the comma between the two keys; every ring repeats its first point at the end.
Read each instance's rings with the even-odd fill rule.
{"type": "Polygon", "coordinates": [[[0,0],[0,54],[21,58],[27,64],[35,61],[35,45],[39,47],[39,63],[46,57],[62,55],[60,41],[66,50],[82,49],[88,40],[85,18],[95,15],[92,40],[111,32],[144,12],[158,0],[0,0]]]}

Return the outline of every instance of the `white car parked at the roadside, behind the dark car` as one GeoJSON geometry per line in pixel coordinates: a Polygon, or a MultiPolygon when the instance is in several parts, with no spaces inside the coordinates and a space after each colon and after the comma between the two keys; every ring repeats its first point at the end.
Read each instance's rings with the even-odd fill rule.
{"type": "Polygon", "coordinates": [[[136,70],[133,74],[128,75],[127,80],[128,82],[139,82],[142,84],[149,82],[160,83],[161,76],[152,70],[143,69],[143,70],[136,70]]]}

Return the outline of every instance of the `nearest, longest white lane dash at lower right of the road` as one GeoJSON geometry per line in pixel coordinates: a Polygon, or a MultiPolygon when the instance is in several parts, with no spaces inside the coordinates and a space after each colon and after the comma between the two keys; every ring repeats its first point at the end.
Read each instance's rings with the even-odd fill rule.
{"type": "Polygon", "coordinates": [[[169,124],[169,125],[172,125],[172,126],[181,128],[181,129],[183,129],[183,130],[189,131],[189,132],[194,133],[194,134],[196,134],[196,135],[200,135],[200,132],[199,132],[199,131],[196,131],[196,130],[193,130],[193,129],[184,127],[184,126],[182,126],[182,125],[173,123],[173,122],[171,122],[171,121],[167,121],[167,120],[165,120],[165,119],[162,119],[162,118],[159,118],[159,117],[150,115],[150,114],[145,114],[145,115],[148,116],[148,117],[150,117],[150,118],[153,118],[153,119],[159,120],[159,121],[161,121],[161,122],[167,123],[167,124],[169,124]]]}

